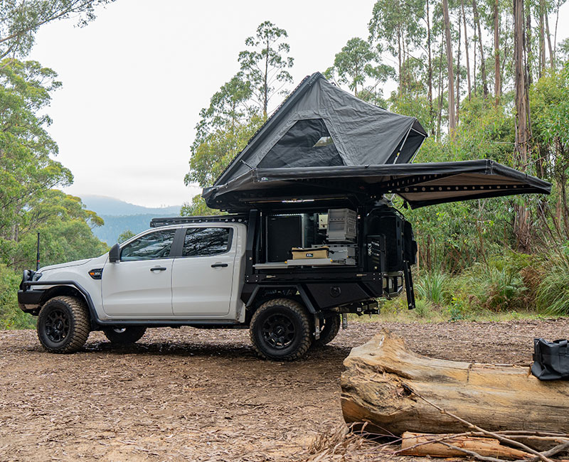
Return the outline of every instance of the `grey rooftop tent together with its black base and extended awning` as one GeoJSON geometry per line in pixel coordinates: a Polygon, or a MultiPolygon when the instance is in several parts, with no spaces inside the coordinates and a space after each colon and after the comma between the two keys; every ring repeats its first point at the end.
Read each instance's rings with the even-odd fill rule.
{"type": "Polygon", "coordinates": [[[551,185],[490,160],[409,163],[427,134],[415,117],[306,77],[203,198],[211,208],[357,206],[395,193],[412,208],[545,193],[551,185]],[[278,205],[275,205],[278,204],[278,205]]]}

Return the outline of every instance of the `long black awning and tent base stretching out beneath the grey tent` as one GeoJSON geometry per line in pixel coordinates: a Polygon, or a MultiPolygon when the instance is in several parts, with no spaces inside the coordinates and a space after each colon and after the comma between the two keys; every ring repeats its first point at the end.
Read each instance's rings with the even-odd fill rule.
{"type": "Polygon", "coordinates": [[[354,205],[395,193],[411,208],[523,193],[549,194],[551,184],[490,160],[370,166],[251,168],[203,190],[211,208],[245,210],[299,201],[354,205]]]}

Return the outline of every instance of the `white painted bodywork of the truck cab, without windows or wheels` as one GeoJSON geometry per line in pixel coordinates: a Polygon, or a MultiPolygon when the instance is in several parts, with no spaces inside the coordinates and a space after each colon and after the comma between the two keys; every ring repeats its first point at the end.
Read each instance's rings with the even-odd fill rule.
{"type": "Polygon", "coordinates": [[[94,259],[51,265],[40,269],[50,281],[74,281],[89,295],[100,321],[237,321],[245,322],[240,301],[245,271],[247,227],[240,223],[200,223],[152,228],[121,247],[157,229],[225,227],[233,230],[228,252],[207,257],[175,257],[109,262],[109,254],[94,259]],[[227,267],[211,267],[227,264],[227,267]],[[151,268],[165,267],[162,271],[151,268]],[[102,279],[92,279],[91,269],[102,269],[102,279]]]}

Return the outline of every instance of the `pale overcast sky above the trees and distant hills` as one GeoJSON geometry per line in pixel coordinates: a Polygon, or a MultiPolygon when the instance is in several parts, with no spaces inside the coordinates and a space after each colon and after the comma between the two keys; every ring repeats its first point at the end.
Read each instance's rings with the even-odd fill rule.
{"type": "MultiPolygon", "coordinates": [[[[373,4],[117,0],[85,28],[44,26],[29,58],[63,82],[48,114],[57,160],[75,176],[66,191],[147,207],[191,200],[200,192],[184,186],[193,127],[238,71],[245,38],[262,21],[285,28],[297,85],[328,68],[350,38],[367,38],[373,4]]],[[[558,40],[568,34],[567,6],[562,12],[558,40]]]]}

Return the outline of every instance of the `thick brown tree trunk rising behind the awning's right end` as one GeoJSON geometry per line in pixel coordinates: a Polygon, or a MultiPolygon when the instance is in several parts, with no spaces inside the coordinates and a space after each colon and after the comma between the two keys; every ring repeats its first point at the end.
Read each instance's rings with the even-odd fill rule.
{"type": "MultiPolygon", "coordinates": [[[[523,0],[514,0],[514,63],[516,66],[516,154],[518,168],[526,171],[528,165],[529,102],[527,92],[525,43],[523,31],[523,0]]],[[[529,210],[524,205],[515,206],[514,233],[521,252],[530,247],[529,210]]]]}

